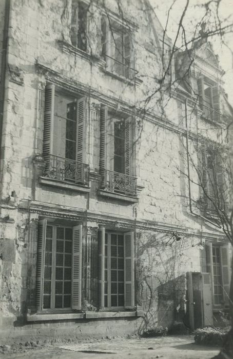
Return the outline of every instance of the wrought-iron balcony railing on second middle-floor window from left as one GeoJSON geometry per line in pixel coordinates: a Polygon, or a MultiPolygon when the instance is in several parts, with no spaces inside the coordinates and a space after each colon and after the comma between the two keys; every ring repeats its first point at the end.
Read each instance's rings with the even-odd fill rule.
{"type": "Polygon", "coordinates": [[[137,195],[137,178],[124,173],[104,170],[102,173],[102,189],[130,196],[137,195]]]}

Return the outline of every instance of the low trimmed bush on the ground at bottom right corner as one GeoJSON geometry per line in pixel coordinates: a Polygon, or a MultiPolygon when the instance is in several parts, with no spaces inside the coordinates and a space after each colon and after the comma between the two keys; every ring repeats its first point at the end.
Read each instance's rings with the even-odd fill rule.
{"type": "Polygon", "coordinates": [[[221,346],[230,327],[212,328],[205,327],[203,329],[196,329],[194,340],[197,344],[205,344],[212,346],[221,346]]]}

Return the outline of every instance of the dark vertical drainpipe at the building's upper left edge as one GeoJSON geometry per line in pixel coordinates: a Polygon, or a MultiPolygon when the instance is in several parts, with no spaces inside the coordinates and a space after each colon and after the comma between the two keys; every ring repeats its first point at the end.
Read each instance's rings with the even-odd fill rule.
{"type": "Polygon", "coordinates": [[[3,48],[2,48],[2,66],[1,66],[1,83],[0,83],[0,158],[2,150],[3,134],[3,117],[4,117],[4,100],[6,88],[6,71],[8,58],[8,31],[10,23],[10,0],[5,0],[5,24],[3,30],[3,48]]]}

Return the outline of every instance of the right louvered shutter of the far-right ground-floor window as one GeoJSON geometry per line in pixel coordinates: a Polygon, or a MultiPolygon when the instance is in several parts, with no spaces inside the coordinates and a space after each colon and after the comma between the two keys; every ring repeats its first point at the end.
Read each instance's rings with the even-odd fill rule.
{"type": "Polygon", "coordinates": [[[221,246],[221,267],[222,267],[222,283],[223,283],[223,297],[226,305],[229,304],[230,293],[230,261],[229,261],[229,247],[221,246]]]}

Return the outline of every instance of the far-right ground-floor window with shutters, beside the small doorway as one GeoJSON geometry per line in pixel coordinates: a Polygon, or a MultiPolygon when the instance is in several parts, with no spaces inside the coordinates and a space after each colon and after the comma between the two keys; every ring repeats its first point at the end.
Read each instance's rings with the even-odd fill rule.
{"type": "Polygon", "coordinates": [[[229,304],[230,262],[227,245],[205,246],[206,272],[211,274],[213,305],[229,304]]]}

